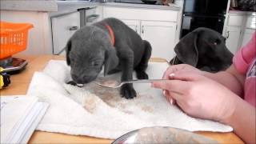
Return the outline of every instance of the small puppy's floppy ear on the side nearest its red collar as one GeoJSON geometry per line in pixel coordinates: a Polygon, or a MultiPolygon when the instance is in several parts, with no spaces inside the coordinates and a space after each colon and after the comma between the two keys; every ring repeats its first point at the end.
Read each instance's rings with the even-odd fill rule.
{"type": "Polygon", "coordinates": [[[106,49],[105,63],[104,63],[104,76],[108,74],[110,70],[113,70],[116,66],[118,66],[119,59],[114,49],[115,49],[114,46],[111,46],[110,48],[106,49]]]}

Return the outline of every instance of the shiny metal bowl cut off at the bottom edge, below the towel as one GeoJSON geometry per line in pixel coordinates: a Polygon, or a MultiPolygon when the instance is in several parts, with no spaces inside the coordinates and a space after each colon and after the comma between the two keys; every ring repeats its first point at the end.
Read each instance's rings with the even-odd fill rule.
{"type": "Polygon", "coordinates": [[[187,130],[166,126],[145,127],[130,131],[117,138],[112,144],[125,143],[218,143],[213,139],[187,130]]]}

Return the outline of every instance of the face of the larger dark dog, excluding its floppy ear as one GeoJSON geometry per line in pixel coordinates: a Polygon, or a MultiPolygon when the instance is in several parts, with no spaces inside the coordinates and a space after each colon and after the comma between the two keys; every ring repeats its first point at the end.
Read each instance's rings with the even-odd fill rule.
{"type": "Polygon", "coordinates": [[[209,66],[212,71],[225,70],[232,64],[233,54],[226,47],[226,38],[217,31],[198,29],[198,66],[209,66]]]}

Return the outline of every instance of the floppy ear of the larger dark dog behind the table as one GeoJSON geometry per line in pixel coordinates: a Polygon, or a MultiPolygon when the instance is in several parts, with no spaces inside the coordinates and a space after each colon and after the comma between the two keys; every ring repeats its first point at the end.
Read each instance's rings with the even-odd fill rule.
{"type": "Polygon", "coordinates": [[[178,59],[191,66],[197,66],[198,63],[198,33],[198,30],[194,30],[186,34],[174,47],[178,59]]]}

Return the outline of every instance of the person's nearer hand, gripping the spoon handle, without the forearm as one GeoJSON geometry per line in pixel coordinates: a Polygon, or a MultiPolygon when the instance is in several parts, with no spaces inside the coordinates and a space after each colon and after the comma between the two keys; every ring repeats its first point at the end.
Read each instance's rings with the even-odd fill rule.
{"type": "Polygon", "coordinates": [[[238,97],[218,82],[184,71],[172,75],[171,79],[153,82],[152,86],[166,90],[166,98],[174,98],[186,114],[222,121],[233,113],[238,97]]]}

